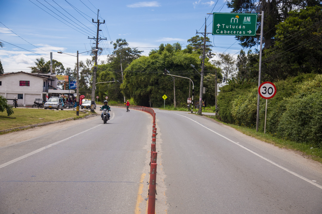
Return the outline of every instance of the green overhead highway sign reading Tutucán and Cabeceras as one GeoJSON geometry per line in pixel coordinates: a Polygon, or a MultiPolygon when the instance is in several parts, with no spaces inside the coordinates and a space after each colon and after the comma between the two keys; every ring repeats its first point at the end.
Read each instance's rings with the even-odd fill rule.
{"type": "Polygon", "coordinates": [[[213,35],[255,36],[257,13],[213,13],[213,35]]]}

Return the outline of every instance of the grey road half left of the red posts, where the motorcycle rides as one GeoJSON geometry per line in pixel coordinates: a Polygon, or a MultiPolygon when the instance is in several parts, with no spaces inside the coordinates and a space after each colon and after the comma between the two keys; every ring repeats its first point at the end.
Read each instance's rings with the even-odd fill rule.
{"type": "Polygon", "coordinates": [[[152,116],[111,116],[1,148],[0,213],[134,213],[152,116]]]}

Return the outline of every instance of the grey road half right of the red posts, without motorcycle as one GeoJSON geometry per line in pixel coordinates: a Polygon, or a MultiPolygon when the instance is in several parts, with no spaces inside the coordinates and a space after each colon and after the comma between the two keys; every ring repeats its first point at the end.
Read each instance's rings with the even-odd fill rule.
{"type": "Polygon", "coordinates": [[[321,165],[196,115],[155,112],[168,213],[322,213],[321,165]]]}

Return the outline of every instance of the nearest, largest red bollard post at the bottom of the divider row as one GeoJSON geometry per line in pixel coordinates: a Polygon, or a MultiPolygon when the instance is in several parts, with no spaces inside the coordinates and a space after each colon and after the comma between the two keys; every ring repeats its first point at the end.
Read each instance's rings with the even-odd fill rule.
{"type": "Polygon", "coordinates": [[[156,212],[156,166],[157,164],[151,163],[147,214],[155,214],[156,212]]]}

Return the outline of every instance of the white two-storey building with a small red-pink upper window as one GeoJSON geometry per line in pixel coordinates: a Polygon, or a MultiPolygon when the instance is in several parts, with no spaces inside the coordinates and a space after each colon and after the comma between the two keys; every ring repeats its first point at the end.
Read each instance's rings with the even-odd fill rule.
{"type": "MultiPolygon", "coordinates": [[[[17,98],[18,106],[31,106],[35,99],[46,101],[49,89],[57,89],[55,74],[4,73],[0,75],[0,95],[7,99],[17,98]]],[[[12,104],[9,102],[8,104],[12,104]]]]}

